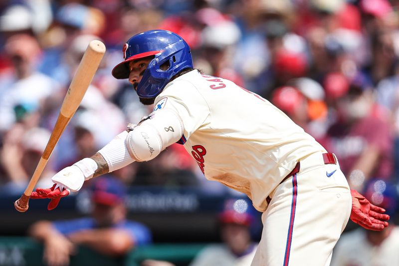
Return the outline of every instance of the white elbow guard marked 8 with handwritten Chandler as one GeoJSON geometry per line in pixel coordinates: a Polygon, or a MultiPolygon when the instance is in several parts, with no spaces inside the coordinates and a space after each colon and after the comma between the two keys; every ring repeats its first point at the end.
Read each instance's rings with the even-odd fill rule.
{"type": "Polygon", "coordinates": [[[130,131],[126,142],[130,155],[142,162],[157,157],[182,135],[183,123],[179,115],[173,110],[163,109],[130,131]]]}

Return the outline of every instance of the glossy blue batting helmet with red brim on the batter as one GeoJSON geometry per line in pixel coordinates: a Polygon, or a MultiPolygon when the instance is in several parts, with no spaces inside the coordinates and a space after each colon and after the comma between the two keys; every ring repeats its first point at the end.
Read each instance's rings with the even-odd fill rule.
{"type": "Polygon", "coordinates": [[[128,63],[132,60],[154,55],[137,86],[141,98],[153,98],[161,93],[171,78],[185,68],[193,68],[193,59],[187,42],[168,30],[149,30],[131,37],[123,47],[124,61],[112,70],[117,79],[129,78],[128,63]],[[160,67],[169,61],[169,68],[160,67]]]}

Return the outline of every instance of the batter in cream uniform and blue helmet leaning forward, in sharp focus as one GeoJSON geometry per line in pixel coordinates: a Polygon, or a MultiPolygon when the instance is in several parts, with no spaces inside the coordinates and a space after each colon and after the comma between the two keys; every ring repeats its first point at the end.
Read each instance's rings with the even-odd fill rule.
{"type": "Polygon", "coordinates": [[[91,158],[55,174],[53,187],[36,189],[31,197],[50,198],[49,209],[85,180],[151,160],[178,142],[207,179],[245,193],[263,212],[252,265],[329,265],[349,217],[372,230],[388,226],[384,209],[356,191],[351,200],[334,154],[264,98],[194,69],[179,35],[139,33],[123,55],[112,75],[129,79],[154,110],[91,158]]]}

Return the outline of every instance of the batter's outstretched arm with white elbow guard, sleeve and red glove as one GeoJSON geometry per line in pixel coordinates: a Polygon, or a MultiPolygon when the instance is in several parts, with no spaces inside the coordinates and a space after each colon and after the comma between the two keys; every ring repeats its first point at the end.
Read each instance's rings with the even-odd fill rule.
{"type": "Polygon", "coordinates": [[[79,191],[84,181],[138,161],[149,161],[177,142],[183,135],[183,122],[172,109],[152,113],[139,125],[117,135],[110,143],[90,158],[68,166],[52,177],[54,185],[37,188],[32,199],[50,198],[48,210],[54,209],[61,197],[70,191],[79,191]]]}

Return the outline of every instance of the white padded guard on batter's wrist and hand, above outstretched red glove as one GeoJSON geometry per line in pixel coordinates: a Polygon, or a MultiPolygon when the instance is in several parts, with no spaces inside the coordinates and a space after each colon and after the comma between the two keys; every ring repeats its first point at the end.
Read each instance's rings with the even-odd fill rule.
{"type": "Polygon", "coordinates": [[[93,159],[84,158],[72,166],[65,167],[56,173],[51,180],[71,191],[78,191],[82,188],[85,180],[93,177],[97,167],[97,163],[93,159]]]}

